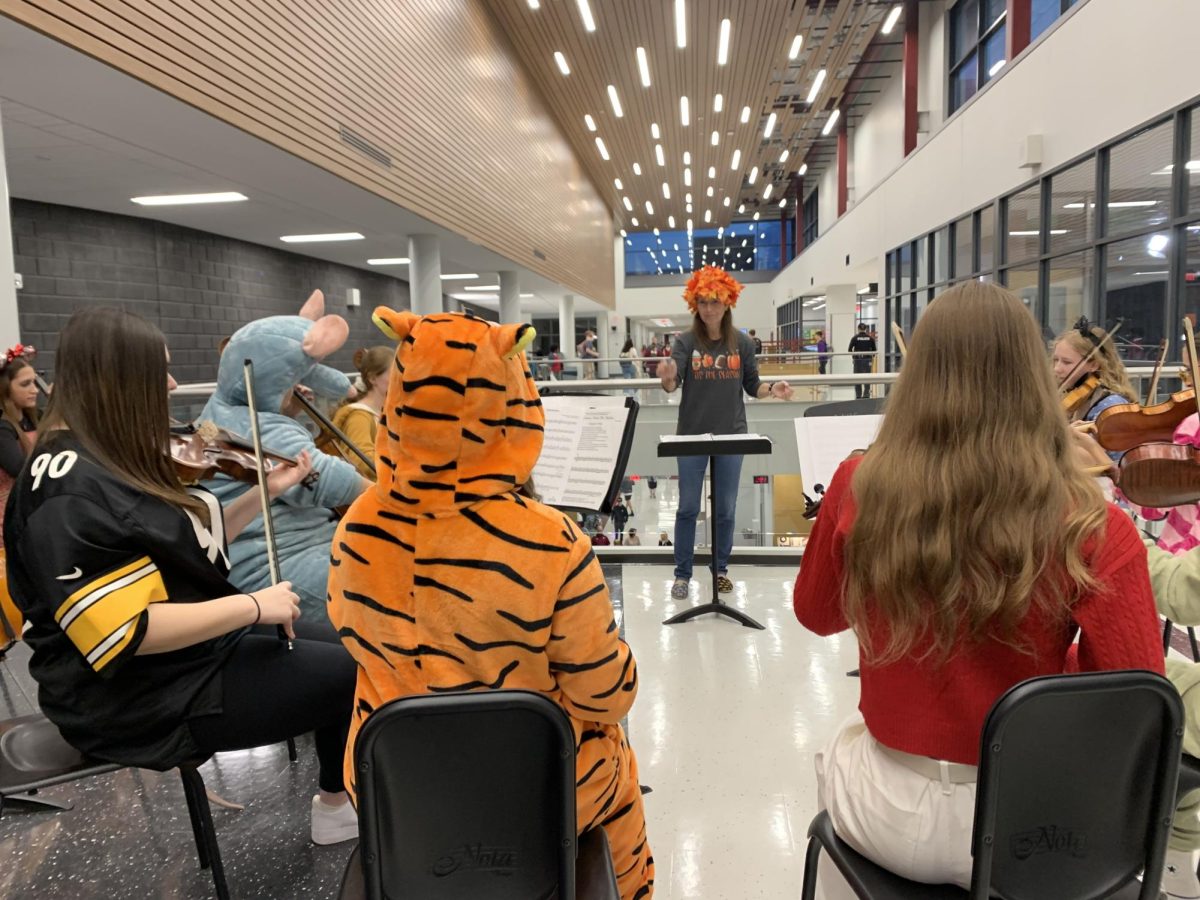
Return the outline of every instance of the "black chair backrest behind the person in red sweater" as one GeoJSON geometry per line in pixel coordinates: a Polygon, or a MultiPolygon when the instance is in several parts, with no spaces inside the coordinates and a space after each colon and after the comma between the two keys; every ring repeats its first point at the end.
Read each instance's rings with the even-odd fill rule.
{"type": "Polygon", "coordinates": [[[1032,678],[984,725],[971,896],[1158,896],[1183,704],[1151,672],[1032,678]]]}

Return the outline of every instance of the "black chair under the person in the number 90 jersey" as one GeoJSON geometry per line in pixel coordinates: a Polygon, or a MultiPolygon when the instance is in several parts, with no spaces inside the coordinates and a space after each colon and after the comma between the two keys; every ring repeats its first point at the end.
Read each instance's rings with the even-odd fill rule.
{"type": "MultiPolygon", "coordinates": [[[[221,900],[228,900],[221,847],[212,826],[204,776],[199,767],[206,760],[196,760],[179,767],[187,799],[187,812],[196,838],[196,854],[202,869],[212,870],[212,884],[221,900]]],[[[89,760],[71,746],[44,715],[23,715],[0,722],[0,815],[6,804],[24,803],[43,809],[67,810],[70,804],[48,800],[38,791],[52,785],[78,781],[127,768],[119,763],[89,760]]]]}

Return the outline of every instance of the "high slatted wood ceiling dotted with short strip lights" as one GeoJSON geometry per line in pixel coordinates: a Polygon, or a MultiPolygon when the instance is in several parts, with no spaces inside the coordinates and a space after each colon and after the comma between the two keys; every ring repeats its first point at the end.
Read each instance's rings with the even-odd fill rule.
{"type": "MultiPolygon", "coordinates": [[[[592,32],[584,29],[580,0],[536,0],[536,10],[530,0],[485,4],[542,90],[618,227],[630,230],[682,229],[688,218],[696,228],[727,226],[742,204],[745,214],[738,218],[756,210],[778,215],[785,194],[793,203],[794,192],[787,194],[792,178],[815,144],[835,140],[836,131],[822,138],[821,130],[895,5],[894,0],[684,0],[686,47],[680,49],[676,46],[676,0],[589,0],[596,24],[592,32]],[[718,43],[725,18],[732,31],[728,62],[721,66],[718,43]],[[803,49],[790,60],[796,35],[803,36],[803,49]],[[648,56],[649,88],[642,85],[638,47],[648,56]],[[570,74],[559,71],[556,52],[565,56],[570,74]],[[810,106],[808,94],[822,68],[827,77],[810,106]],[[617,89],[622,118],[610,102],[610,84],[617,89]],[[720,113],[714,112],[716,94],[724,100],[720,113]],[[680,118],[682,96],[690,107],[688,126],[680,118]],[[742,122],[744,107],[750,108],[746,122],[742,122]],[[764,139],[772,112],[778,122],[764,139]],[[588,130],[586,115],[595,121],[595,132],[588,130]],[[659,126],[661,139],[653,138],[652,124],[659,126]],[[608,161],[601,158],[596,137],[604,140],[608,161]],[[664,166],[655,160],[656,144],[662,145],[664,166]],[[787,161],[780,163],[785,149],[787,161]],[[736,150],[740,161],[734,168],[736,150]],[[690,187],[684,184],[684,152],[691,155],[690,187]],[[635,174],[635,163],[641,175],[635,174]],[[758,176],[750,185],[755,167],[758,176]],[[670,199],[664,198],[664,182],[670,199]],[[767,184],[773,185],[772,194],[763,200],[767,184]],[[688,193],[692,196],[690,214],[688,193]],[[624,205],[626,197],[632,211],[624,205]],[[647,211],[647,202],[653,212],[647,211]],[[708,223],[706,212],[712,217],[708,223]]],[[[814,162],[818,157],[824,155],[814,152],[814,162]]]]}

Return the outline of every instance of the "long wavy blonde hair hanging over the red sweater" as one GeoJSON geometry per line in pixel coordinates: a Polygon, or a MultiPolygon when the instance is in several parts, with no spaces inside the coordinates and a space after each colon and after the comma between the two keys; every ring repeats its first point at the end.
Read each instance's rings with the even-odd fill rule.
{"type": "Polygon", "coordinates": [[[1093,586],[1082,546],[1106,511],[1067,427],[1015,295],[971,281],[930,304],[853,478],[845,611],[869,659],[1021,647],[1031,606],[1064,614],[1093,586]]]}

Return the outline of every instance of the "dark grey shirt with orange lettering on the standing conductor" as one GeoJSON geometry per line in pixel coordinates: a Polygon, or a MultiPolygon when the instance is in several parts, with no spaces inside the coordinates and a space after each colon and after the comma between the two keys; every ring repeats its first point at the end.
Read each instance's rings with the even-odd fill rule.
{"type": "Polygon", "coordinates": [[[740,331],[737,350],[698,346],[691,332],[682,334],[671,349],[679,367],[679,425],[676,434],[745,434],[746,407],[742,392],[751,397],[762,384],[754,341],[740,331]]]}

